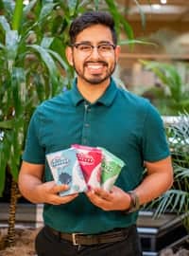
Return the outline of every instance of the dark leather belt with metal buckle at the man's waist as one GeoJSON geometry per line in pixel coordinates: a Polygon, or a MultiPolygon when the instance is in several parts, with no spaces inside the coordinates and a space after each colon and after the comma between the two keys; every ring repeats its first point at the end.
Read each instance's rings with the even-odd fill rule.
{"type": "MultiPolygon", "coordinates": [[[[132,226],[133,227],[133,226],[132,226]]],[[[46,227],[54,235],[59,236],[59,238],[70,241],[74,246],[91,246],[96,244],[113,243],[124,240],[129,234],[129,228],[123,229],[113,229],[109,232],[99,233],[99,234],[83,234],[83,233],[62,233],[58,230],[46,227]]]]}

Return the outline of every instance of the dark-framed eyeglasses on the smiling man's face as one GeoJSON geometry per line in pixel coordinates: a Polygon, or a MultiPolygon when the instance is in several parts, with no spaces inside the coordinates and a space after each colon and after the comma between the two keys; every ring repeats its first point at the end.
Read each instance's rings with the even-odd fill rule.
{"type": "Polygon", "coordinates": [[[86,54],[86,55],[91,55],[94,48],[97,49],[97,52],[99,55],[103,55],[103,56],[112,54],[112,52],[115,49],[115,46],[112,44],[100,44],[98,46],[93,46],[90,44],[77,43],[71,46],[76,47],[80,53],[86,54]]]}

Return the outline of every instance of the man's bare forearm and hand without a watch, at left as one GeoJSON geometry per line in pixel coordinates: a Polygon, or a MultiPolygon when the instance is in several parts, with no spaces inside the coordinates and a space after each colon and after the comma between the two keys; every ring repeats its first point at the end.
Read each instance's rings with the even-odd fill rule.
{"type": "Polygon", "coordinates": [[[67,185],[56,185],[54,181],[43,183],[44,166],[23,161],[19,174],[20,192],[32,203],[52,205],[65,204],[77,197],[76,194],[60,196],[59,192],[69,189],[67,185]]]}

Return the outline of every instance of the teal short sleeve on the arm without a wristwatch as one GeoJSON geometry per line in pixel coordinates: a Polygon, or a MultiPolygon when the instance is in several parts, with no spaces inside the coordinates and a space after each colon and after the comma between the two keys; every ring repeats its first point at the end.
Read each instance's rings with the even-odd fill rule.
{"type": "Polygon", "coordinates": [[[23,160],[29,163],[44,164],[45,152],[40,141],[41,119],[38,109],[30,119],[23,160]]]}

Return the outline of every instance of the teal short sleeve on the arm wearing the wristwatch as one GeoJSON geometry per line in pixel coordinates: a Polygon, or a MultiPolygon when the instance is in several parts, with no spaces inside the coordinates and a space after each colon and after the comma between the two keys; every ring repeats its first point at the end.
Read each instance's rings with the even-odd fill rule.
{"type": "Polygon", "coordinates": [[[170,155],[163,119],[150,103],[147,106],[142,139],[143,156],[146,161],[158,161],[170,155]]]}

